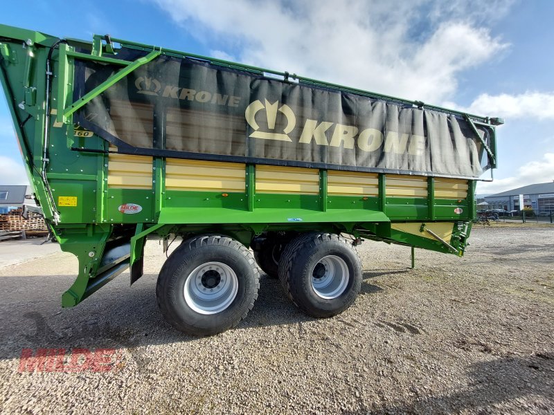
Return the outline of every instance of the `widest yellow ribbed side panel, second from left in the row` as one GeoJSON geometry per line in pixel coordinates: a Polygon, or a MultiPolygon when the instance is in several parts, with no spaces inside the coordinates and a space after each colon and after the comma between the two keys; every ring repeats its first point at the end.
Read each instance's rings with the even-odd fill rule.
{"type": "Polygon", "coordinates": [[[166,190],[244,192],[246,165],[220,161],[166,160],[166,190]]]}

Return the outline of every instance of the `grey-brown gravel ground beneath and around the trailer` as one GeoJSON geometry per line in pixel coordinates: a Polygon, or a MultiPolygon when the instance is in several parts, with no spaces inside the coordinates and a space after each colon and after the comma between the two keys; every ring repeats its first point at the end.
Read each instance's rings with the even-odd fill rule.
{"type": "Polygon", "coordinates": [[[264,276],[247,320],[202,339],[161,320],[157,241],[132,288],[125,273],[69,309],[71,255],[2,266],[0,412],[554,414],[554,228],[471,242],[463,258],[416,250],[411,270],[409,248],[365,241],[361,295],[328,320],[264,276]],[[22,349],[45,347],[114,348],[115,363],[19,371],[22,349]]]}

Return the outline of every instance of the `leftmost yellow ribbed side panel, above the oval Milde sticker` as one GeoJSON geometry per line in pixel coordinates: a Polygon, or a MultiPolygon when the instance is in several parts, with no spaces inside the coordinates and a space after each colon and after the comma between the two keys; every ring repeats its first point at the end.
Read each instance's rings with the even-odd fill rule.
{"type": "Polygon", "coordinates": [[[152,189],[152,157],[109,153],[108,188],[152,189]]]}

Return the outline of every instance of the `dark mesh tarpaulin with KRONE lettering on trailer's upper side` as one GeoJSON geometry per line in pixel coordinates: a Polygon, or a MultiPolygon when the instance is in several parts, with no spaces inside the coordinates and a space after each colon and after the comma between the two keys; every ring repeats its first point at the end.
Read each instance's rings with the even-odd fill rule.
{"type": "MultiPolygon", "coordinates": [[[[74,98],[118,69],[76,62],[74,98]]],[[[459,115],[188,58],[141,66],[76,122],[129,154],[468,178],[490,167],[459,115]]],[[[492,128],[477,124],[488,145],[492,128]]]]}

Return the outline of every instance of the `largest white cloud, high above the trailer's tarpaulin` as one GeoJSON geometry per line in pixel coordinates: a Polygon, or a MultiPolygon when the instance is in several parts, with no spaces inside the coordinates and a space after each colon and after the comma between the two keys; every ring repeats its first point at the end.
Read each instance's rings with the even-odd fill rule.
{"type": "Polygon", "coordinates": [[[506,48],[476,26],[492,10],[460,1],[157,3],[199,39],[238,50],[241,62],[429,103],[450,98],[461,71],[506,48]]]}

